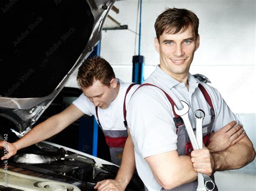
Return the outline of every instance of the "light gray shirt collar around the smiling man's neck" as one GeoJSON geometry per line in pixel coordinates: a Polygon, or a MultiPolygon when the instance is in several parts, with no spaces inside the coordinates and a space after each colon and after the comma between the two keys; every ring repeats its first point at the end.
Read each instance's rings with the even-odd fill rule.
{"type": "MultiPolygon", "coordinates": [[[[165,84],[166,87],[171,89],[172,87],[176,86],[177,84],[180,84],[178,80],[175,80],[172,76],[168,75],[164,70],[162,70],[159,65],[156,67],[156,70],[154,70],[154,76],[161,81],[161,83],[165,84]]],[[[191,75],[190,73],[188,74],[188,84],[194,84],[198,83],[196,78],[191,75]]]]}

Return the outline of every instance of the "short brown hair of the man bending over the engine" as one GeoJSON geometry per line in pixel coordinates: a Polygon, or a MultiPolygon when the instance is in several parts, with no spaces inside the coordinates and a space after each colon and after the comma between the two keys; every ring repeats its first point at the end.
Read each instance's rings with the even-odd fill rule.
{"type": "Polygon", "coordinates": [[[97,56],[82,63],[78,69],[77,82],[80,87],[84,88],[92,86],[95,80],[99,80],[105,86],[110,86],[110,81],[115,77],[109,62],[97,56]]]}

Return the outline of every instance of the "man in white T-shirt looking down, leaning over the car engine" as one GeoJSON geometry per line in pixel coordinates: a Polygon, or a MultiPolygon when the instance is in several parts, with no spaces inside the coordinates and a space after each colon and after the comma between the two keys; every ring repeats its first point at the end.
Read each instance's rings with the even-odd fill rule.
{"type": "MultiPolygon", "coordinates": [[[[124,100],[126,97],[126,103],[129,102],[138,85],[116,79],[110,64],[98,57],[83,62],[78,69],[77,82],[83,94],[68,108],[38,124],[17,142],[9,143],[6,158],[10,158],[21,148],[56,135],[86,114],[96,116],[104,132],[106,143],[110,147],[111,161],[120,165],[127,138],[127,127],[124,125],[124,100]]],[[[0,142],[0,146],[4,146],[3,142],[0,142]]],[[[2,157],[3,159],[5,157],[2,157]]]]}

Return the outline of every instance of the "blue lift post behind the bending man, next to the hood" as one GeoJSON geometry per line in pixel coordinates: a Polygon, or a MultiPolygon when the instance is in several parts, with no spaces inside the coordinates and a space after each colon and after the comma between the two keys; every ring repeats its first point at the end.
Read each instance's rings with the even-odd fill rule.
{"type": "MultiPolygon", "coordinates": [[[[87,59],[100,55],[100,41],[87,59]]],[[[78,150],[97,157],[98,123],[95,117],[82,117],[80,119],[78,150]],[[93,128],[91,128],[93,127],[93,128]]]]}

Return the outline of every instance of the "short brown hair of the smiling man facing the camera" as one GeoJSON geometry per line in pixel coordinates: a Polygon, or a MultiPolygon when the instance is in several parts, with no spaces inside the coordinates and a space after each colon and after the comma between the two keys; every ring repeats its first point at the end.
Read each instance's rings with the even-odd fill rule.
{"type": "Polygon", "coordinates": [[[166,32],[167,34],[176,34],[192,27],[195,37],[198,36],[199,19],[195,13],[187,9],[168,8],[162,12],[154,23],[157,39],[166,32]]]}

